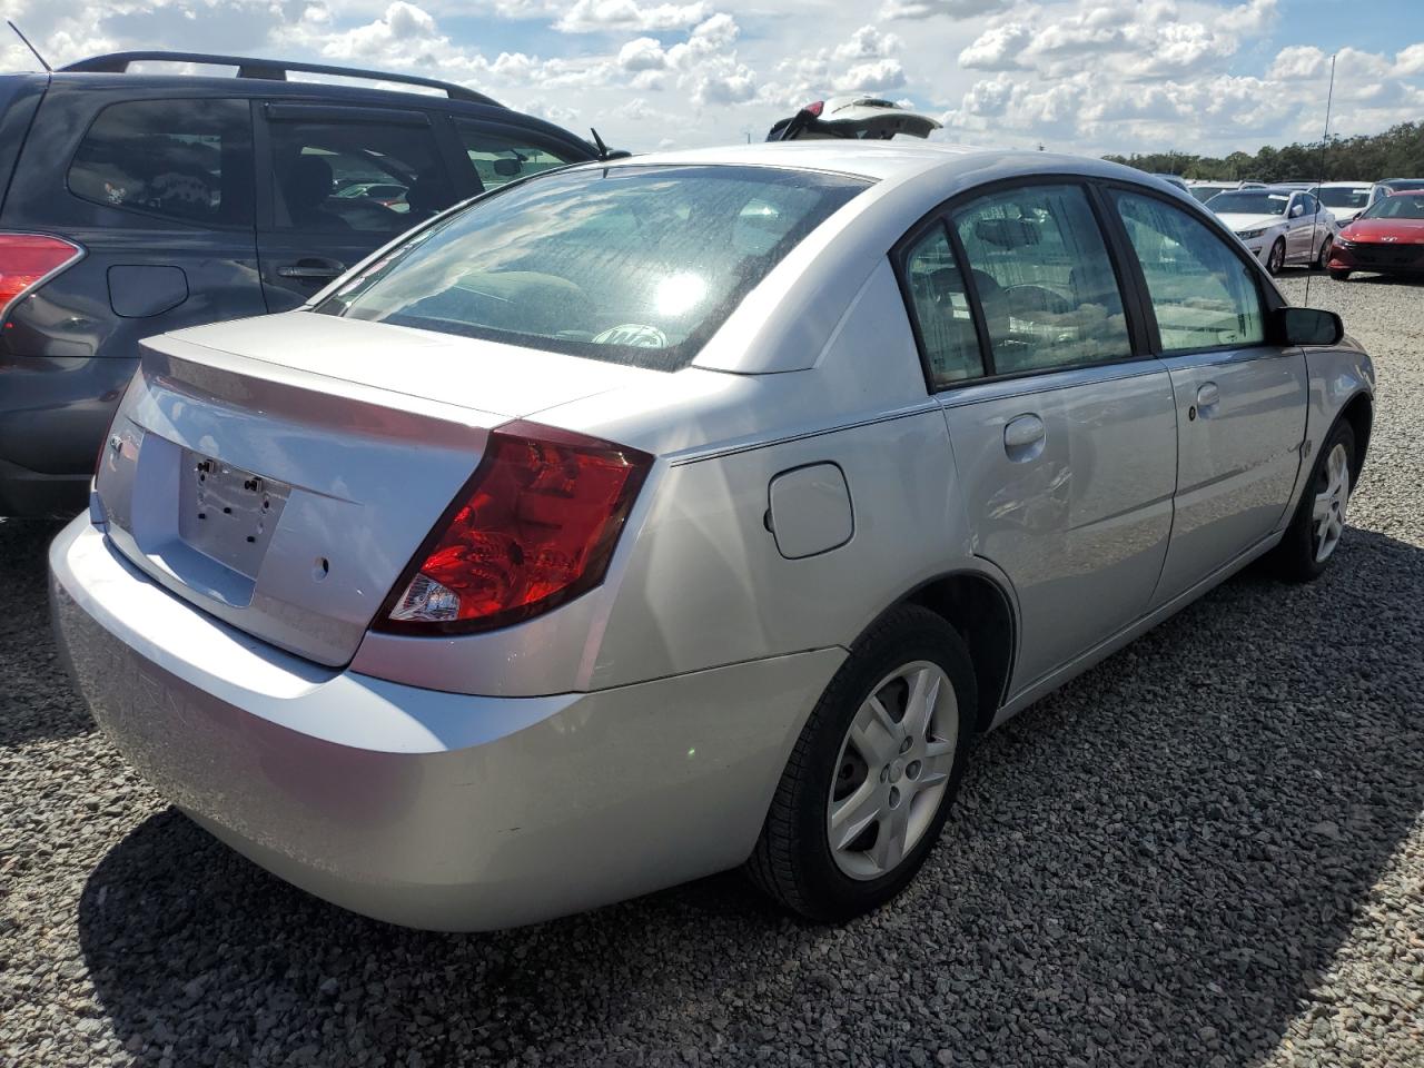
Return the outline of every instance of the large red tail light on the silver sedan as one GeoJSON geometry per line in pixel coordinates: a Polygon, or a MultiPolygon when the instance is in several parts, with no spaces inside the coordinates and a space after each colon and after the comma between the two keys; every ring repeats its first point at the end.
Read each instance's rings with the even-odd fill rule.
{"type": "Polygon", "coordinates": [[[646,453],[537,423],[491,430],[376,629],[488,631],[592,590],[651,466],[646,453]]]}

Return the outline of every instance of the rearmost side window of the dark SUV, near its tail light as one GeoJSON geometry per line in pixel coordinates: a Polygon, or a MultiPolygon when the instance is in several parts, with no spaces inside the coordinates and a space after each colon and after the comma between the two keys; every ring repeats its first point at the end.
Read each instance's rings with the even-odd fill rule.
{"type": "Polygon", "coordinates": [[[252,115],[242,100],[135,100],[98,112],[70,192],[209,226],[252,225],[252,115]]]}

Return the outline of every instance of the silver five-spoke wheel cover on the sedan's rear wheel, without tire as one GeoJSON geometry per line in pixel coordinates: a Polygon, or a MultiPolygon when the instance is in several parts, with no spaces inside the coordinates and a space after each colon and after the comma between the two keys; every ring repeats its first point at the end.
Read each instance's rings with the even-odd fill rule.
{"type": "Polygon", "coordinates": [[[836,866],[852,879],[893,871],[934,822],[958,743],[944,671],[914,661],[880,681],[840,743],[826,805],[836,866]]]}

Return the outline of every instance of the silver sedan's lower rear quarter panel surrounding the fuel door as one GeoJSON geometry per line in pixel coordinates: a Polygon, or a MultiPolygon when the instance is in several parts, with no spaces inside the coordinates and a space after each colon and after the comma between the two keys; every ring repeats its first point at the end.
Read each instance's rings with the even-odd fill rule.
{"type": "Polygon", "coordinates": [[[938,409],[672,467],[590,684],[849,645],[900,595],[968,555],[938,409]],[[765,524],[768,487],[815,463],[844,473],[854,533],[840,548],[786,560],[765,524]]]}

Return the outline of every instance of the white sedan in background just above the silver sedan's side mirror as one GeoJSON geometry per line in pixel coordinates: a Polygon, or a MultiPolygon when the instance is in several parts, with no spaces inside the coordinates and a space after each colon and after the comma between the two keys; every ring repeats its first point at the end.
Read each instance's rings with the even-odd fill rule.
{"type": "Polygon", "coordinates": [[[1273,275],[1292,265],[1323,271],[1340,229],[1334,215],[1306,189],[1235,189],[1218,194],[1206,206],[1273,275]]]}

